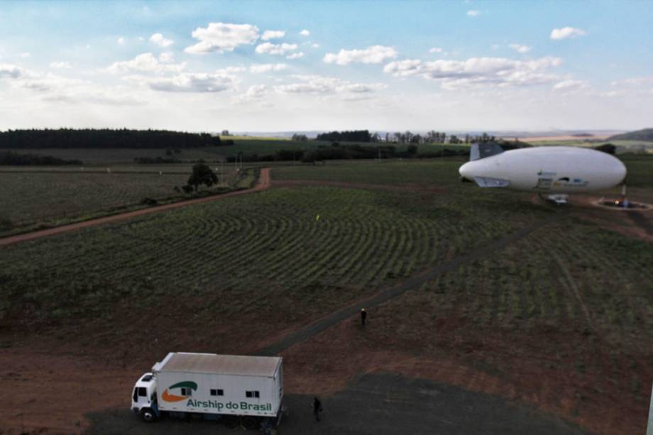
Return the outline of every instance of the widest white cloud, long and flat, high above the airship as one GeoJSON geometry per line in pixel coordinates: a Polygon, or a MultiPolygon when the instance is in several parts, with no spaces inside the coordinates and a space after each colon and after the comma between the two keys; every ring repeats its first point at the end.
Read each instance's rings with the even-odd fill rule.
{"type": "Polygon", "coordinates": [[[512,87],[544,84],[560,77],[546,72],[561,65],[559,57],[535,60],[510,60],[504,57],[470,57],[467,60],[400,60],[385,65],[383,71],[395,77],[419,76],[435,80],[443,89],[481,85],[512,87]]]}

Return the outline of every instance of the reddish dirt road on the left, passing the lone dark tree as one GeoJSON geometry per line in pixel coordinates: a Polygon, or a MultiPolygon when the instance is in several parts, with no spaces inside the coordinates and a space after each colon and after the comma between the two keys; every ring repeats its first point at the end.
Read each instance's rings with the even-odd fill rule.
{"type": "Polygon", "coordinates": [[[189,199],[187,201],[173,202],[172,204],[150,207],[149,209],[129,211],[128,213],[114,214],[112,216],[106,216],[98,219],[91,219],[89,221],[77,222],[76,224],[57,226],[55,228],[48,228],[40,231],[33,231],[31,233],[24,233],[24,234],[18,234],[16,236],[0,238],[0,246],[6,246],[6,245],[11,245],[13,243],[33,240],[35,238],[54,236],[55,234],[67,233],[68,231],[75,231],[79,228],[87,228],[88,226],[96,226],[101,224],[110,224],[112,222],[125,221],[126,219],[132,219],[136,216],[143,216],[145,214],[158,213],[160,211],[179,209],[180,207],[186,207],[192,204],[201,204],[202,202],[212,202],[224,198],[238,197],[253,192],[260,192],[262,190],[268,189],[268,187],[270,187],[270,168],[265,167],[260,170],[260,176],[258,178],[258,182],[256,183],[256,186],[253,187],[252,189],[238,190],[236,192],[229,192],[226,194],[215,195],[213,197],[197,198],[197,199],[189,199]]]}

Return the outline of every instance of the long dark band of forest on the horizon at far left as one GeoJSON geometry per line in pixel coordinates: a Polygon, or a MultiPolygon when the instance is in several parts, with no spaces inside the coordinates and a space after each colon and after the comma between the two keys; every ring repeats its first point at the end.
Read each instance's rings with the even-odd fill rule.
{"type": "Polygon", "coordinates": [[[9,130],[0,131],[0,148],[198,148],[220,146],[209,133],[168,130],[9,130]]]}

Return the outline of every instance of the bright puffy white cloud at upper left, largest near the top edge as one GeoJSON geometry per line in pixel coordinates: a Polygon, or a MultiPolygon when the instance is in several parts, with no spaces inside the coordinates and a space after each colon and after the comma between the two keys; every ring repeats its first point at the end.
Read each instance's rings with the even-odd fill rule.
{"type": "Polygon", "coordinates": [[[192,37],[199,43],[187,47],[186,53],[224,53],[234,51],[238,45],[255,43],[258,40],[258,27],[251,24],[209,23],[206,28],[196,28],[192,37]]]}

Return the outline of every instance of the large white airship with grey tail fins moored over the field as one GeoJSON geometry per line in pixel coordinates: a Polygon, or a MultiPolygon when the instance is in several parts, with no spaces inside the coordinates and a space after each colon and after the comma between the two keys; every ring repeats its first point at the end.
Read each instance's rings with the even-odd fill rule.
{"type": "Polygon", "coordinates": [[[504,151],[495,143],[472,144],[469,162],[460,175],[481,187],[557,194],[549,199],[566,202],[567,194],[609,189],[623,182],[626,167],[608,153],[587,148],[542,146],[504,151]]]}

